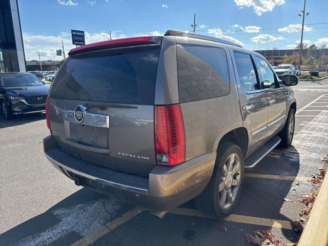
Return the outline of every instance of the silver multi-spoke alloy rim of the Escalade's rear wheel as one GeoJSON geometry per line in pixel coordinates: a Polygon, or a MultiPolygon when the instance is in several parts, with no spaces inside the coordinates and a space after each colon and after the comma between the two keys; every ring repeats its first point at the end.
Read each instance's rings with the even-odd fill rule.
{"type": "Polygon", "coordinates": [[[233,205],[241,180],[241,161],[238,154],[231,154],[221,171],[219,181],[219,204],[223,210],[231,208],[233,205]]]}

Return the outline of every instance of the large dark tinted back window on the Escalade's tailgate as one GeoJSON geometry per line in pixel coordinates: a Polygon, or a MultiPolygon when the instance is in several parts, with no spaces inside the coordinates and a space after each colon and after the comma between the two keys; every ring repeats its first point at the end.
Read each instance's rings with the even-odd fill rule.
{"type": "Polygon", "coordinates": [[[154,104],[159,46],[71,56],[50,97],[120,104],[154,104]]]}

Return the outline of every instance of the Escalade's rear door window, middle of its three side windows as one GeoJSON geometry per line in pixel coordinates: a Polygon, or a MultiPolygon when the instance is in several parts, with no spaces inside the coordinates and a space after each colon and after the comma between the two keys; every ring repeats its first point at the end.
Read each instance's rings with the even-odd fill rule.
{"type": "Polygon", "coordinates": [[[234,52],[237,73],[241,86],[246,91],[259,90],[260,86],[255,73],[255,66],[250,54],[234,52]]]}

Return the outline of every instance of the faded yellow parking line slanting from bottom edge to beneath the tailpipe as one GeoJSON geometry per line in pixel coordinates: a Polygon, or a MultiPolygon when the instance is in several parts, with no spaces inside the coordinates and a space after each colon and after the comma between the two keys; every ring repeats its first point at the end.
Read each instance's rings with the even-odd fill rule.
{"type": "Polygon", "coordinates": [[[121,226],[121,224],[124,224],[125,222],[132,219],[134,216],[138,215],[145,209],[136,207],[131,211],[126,212],[125,214],[121,215],[120,217],[108,222],[104,226],[101,226],[98,230],[90,233],[89,235],[81,238],[80,240],[74,242],[71,244],[71,246],[87,246],[89,244],[92,244],[94,241],[96,241],[98,238],[106,235],[110,231],[114,230],[115,228],[121,226]]]}

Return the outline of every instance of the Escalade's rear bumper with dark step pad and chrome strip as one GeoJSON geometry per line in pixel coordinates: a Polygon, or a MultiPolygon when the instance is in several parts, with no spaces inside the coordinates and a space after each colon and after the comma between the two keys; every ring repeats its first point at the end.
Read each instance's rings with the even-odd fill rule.
{"type": "Polygon", "coordinates": [[[214,169],[216,152],[176,167],[156,166],[149,177],[101,168],[57,148],[53,138],[44,139],[45,155],[60,172],[81,186],[91,187],[153,211],[166,211],[199,195],[214,169]]]}

